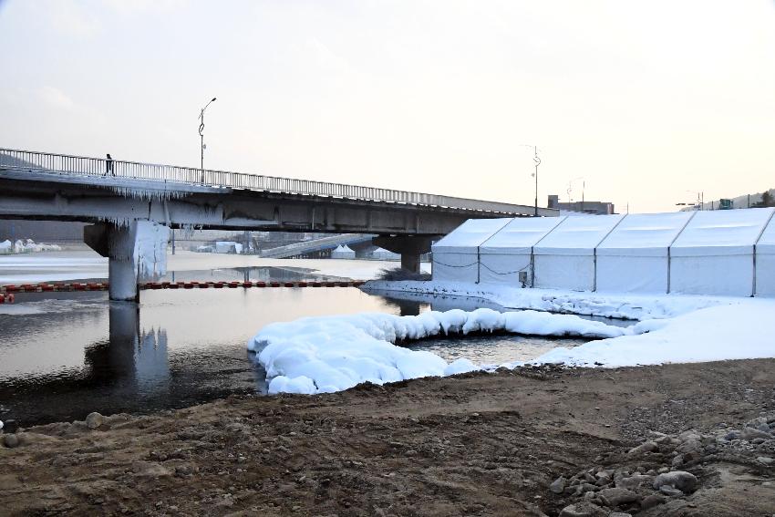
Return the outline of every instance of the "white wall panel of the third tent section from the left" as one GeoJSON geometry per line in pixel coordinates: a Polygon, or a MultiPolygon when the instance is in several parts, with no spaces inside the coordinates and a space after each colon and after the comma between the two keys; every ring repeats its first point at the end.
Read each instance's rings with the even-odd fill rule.
{"type": "Polygon", "coordinates": [[[547,289],[592,291],[594,257],[592,255],[535,255],[535,284],[547,289]]]}

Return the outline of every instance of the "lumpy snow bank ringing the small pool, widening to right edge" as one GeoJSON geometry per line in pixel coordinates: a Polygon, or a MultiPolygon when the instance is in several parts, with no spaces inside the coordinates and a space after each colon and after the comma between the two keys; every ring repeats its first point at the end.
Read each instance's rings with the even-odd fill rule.
{"type": "Polygon", "coordinates": [[[766,326],[773,314],[775,300],[749,299],[670,319],[646,320],[628,328],[576,315],[499,313],[491,309],[431,311],[417,316],[313,317],[266,326],[248,348],[260,352],[258,360],[271,378],[270,393],[313,394],[352,388],[366,381],[383,384],[483,369],[469,359],[447,364],[429,352],[393,345],[397,340],[448,333],[504,330],[535,336],[604,338],[573,348],[554,348],[530,361],[532,364],[625,367],[775,357],[775,337],[766,326]]]}

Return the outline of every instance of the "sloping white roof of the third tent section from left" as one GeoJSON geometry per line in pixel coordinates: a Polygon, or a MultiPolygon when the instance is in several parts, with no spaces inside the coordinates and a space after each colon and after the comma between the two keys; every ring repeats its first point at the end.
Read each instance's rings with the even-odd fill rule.
{"type": "Polygon", "coordinates": [[[566,217],[533,248],[536,254],[591,255],[624,215],[566,217]]]}

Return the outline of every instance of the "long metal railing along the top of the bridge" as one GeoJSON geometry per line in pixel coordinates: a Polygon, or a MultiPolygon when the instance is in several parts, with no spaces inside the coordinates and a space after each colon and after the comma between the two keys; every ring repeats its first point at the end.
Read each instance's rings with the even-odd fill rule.
{"type": "MultiPolygon", "coordinates": [[[[486,202],[467,198],[439,196],[412,191],[396,191],[325,181],[294,180],[246,174],[243,172],[212,171],[175,165],[140,163],[138,161],[107,160],[66,154],[0,148],[0,166],[19,171],[51,171],[75,176],[116,176],[138,180],[180,182],[209,187],[226,187],[251,191],[273,191],[310,196],[325,196],[374,202],[439,206],[478,212],[502,214],[532,214],[532,207],[505,202],[486,202]]],[[[539,209],[541,215],[557,215],[557,211],[539,209]]]]}

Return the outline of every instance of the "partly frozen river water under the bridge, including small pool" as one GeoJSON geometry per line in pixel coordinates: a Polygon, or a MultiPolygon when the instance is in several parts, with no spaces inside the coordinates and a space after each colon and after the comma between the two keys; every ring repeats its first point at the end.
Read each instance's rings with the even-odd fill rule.
{"type": "MultiPolygon", "coordinates": [[[[176,258],[177,257],[177,258],[176,258]]],[[[340,280],[374,277],[395,263],[266,261],[252,256],[183,253],[175,280],[340,280]]],[[[90,252],[0,257],[0,284],[104,277],[90,252]],[[82,276],[88,272],[87,276],[82,276]]],[[[105,273],[102,273],[102,268],[105,273]]],[[[181,408],[232,393],[264,393],[263,368],[246,350],[263,326],[312,315],[430,309],[471,310],[486,302],[399,300],[354,287],[143,291],[140,304],[110,303],[105,292],[30,293],[0,305],[0,420],[29,426],[83,419],[91,411],[141,413],[181,408]]],[[[500,364],[537,357],[579,339],[477,336],[409,346],[445,359],[500,364]]]]}

